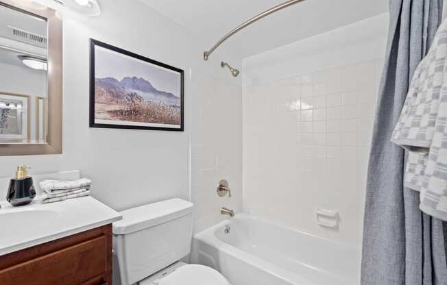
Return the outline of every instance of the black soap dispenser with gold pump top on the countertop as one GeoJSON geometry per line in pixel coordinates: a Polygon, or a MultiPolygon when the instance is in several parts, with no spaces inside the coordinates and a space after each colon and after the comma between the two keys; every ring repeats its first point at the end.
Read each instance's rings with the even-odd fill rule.
{"type": "Polygon", "coordinates": [[[27,166],[17,166],[16,177],[10,181],[6,199],[12,206],[23,206],[31,203],[36,197],[32,177],[28,177],[27,166]]]}

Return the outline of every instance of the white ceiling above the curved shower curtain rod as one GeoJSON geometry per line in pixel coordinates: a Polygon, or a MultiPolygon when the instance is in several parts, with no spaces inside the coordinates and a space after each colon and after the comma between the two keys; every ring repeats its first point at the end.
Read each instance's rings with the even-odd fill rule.
{"type": "MultiPolygon", "coordinates": [[[[285,0],[138,1],[200,35],[205,50],[237,25],[285,0]]],[[[388,0],[306,0],[246,27],[221,49],[246,58],[387,11],[388,0]]]]}

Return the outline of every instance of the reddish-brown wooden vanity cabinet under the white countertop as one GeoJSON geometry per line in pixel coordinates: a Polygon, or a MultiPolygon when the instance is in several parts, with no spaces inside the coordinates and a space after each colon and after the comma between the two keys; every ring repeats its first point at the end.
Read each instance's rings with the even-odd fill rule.
{"type": "Polygon", "coordinates": [[[112,285],[112,225],[0,256],[1,285],[112,285]]]}

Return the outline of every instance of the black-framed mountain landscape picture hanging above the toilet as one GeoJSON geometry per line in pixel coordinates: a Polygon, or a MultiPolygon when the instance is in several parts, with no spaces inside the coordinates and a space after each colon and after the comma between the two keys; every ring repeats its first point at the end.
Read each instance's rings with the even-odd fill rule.
{"type": "Polygon", "coordinates": [[[90,127],[184,130],[184,71],[90,39],[90,127]]]}

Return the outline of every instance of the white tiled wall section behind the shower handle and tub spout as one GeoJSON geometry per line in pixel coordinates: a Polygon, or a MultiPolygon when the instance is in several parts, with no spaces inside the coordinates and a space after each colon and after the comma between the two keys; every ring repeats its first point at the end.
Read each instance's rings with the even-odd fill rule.
{"type": "Polygon", "coordinates": [[[242,88],[199,75],[193,106],[191,201],[194,232],[226,219],[219,209],[242,209],[242,88]],[[228,180],[232,197],[219,197],[217,184],[228,180]]]}

